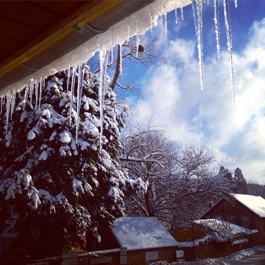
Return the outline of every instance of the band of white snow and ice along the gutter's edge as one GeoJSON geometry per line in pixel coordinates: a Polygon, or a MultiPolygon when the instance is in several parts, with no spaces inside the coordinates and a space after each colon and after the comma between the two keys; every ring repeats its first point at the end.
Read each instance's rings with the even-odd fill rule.
{"type": "Polygon", "coordinates": [[[29,74],[27,77],[24,77],[12,85],[5,87],[0,91],[0,97],[7,95],[8,92],[13,90],[19,92],[22,88],[24,88],[24,86],[31,83],[31,79],[36,80],[41,77],[47,77],[56,74],[58,71],[67,69],[70,58],[71,66],[87,62],[88,59],[100,50],[100,46],[110,47],[111,37],[113,39],[113,47],[119,43],[125,42],[127,39],[127,26],[129,26],[130,29],[130,37],[136,34],[135,23],[137,18],[139,19],[139,34],[142,35],[150,28],[150,15],[152,15],[153,20],[152,26],[156,27],[159,15],[166,14],[175,8],[184,7],[189,4],[191,4],[190,0],[156,0],[113,25],[106,32],[98,34],[79,47],[42,67],[42,69],[29,74]],[[119,40],[117,37],[119,37],[119,40]]]}

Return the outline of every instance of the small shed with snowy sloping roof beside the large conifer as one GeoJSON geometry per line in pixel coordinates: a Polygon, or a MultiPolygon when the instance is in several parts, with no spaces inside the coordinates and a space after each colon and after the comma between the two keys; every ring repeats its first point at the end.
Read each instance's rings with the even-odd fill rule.
{"type": "MultiPolygon", "coordinates": [[[[127,264],[149,264],[156,260],[176,261],[178,242],[156,217],[121,217],[114,225],[116,227],[112,229],[112,236],[107,238],[107,242],[102,237],[102,241],[105,241],[102,243],[105,249],[127,247],[127,264]]],[[[112,254],[112,257],[115,258],[115,255],[112,254]]]]}

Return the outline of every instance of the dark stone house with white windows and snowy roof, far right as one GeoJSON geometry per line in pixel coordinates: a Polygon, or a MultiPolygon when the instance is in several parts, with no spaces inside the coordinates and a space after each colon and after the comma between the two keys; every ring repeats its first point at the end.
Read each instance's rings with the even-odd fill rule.
{"type": "Polygon", "coordinates": [[[201,219],[219,218],[230,223],[258,230],[260,244],[265,244],[265,200],[260,196],[233,194],[229,199],[221,198],[201,219]]]}

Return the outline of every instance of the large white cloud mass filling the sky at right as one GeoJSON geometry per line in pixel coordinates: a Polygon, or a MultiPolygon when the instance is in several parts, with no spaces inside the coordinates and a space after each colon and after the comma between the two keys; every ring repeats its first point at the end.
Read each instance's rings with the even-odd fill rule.
{"type": "Polygon", "coordinates": [[[203,143],[223,156],[226,167],[242,169],[246,178],[265,180],[265,19],[255,22],[246,48],[233,54],[236,102],[232,100],[228,52],[204,58],[200,89],[195,41],[176,39],[166,47],[178,67],[154,70],[133,113],[155,113],[179,142],[203,143]],[[194,56],[195,54],[195,56],[194,56]],[[196,59],[194,59],[196,58],[196,59]],[[165,74],[166,73],[166,74],[165,74]]]}

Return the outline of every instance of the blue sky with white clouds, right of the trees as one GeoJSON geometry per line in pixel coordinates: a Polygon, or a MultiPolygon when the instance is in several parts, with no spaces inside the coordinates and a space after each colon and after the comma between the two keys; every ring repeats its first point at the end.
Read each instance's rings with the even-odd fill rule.
{"type": "Polygon", "coordinates": [[[146,34],[160,36],[161,52],[175,58],[164,65],[135,71],[143,97],[128,100],[132,119],[155,115],[178,143],[202,143],[216,153],[217,163],[241,168],[245,178],[265,181],[265,1],[229,1],[236,102],[229,72],[223,1],[219,1],[220,52],[217,58],[213,1],[203,4],[203,75],[200,87],[198,49],[191,5],[167,14],[163,24],[146,34]]]}

